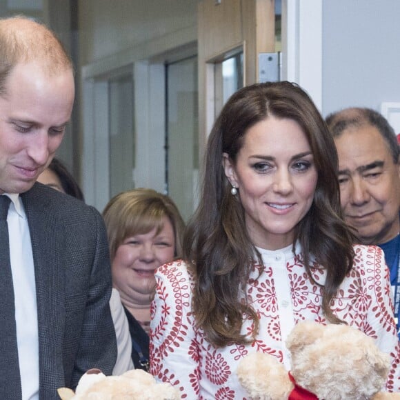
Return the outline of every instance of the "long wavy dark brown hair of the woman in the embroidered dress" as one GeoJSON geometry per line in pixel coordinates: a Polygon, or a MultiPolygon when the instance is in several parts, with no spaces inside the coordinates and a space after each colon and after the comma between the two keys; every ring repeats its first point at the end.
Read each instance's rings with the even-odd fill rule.
{"type": "Polygon", "coordinates": [[[326,268],[322,307],[332,323],[339,319],[332,313],[330,302],[352,267],[353,237],[341,214],[337,151],[314,103],[299,86],[289,82],[258,83],[239,90],[223,107],[210,133],[199,207],[183,239],[183,256],[196,282],[194,315],[217,347],[232,341],[248,343],[257,334],[257,314],[243,293],[252,263],[262,265],[261,254],[248,236],[239,196],[230,193],[223,153],[235,163],[249,128],[271,116],[296,121],[310,143],[317,188],[310,210],[296,227],[294,243],[301,243],[311,280],[312,256],[326,268]],[[243,315],[254,322],[252,338],[241,334],[243,315]]]}

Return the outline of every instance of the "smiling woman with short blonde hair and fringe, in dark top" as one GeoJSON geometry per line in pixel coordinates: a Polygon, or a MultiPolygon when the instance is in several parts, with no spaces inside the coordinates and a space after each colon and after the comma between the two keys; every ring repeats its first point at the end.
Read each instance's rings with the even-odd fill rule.
{"type": "Polygon", "coordinates": [[[119,292],[128,317],[134,367],[148,370],[154,272],[181,256],[184,222],[170,197],[144,188],[112,198],[103,218],[110,243],[113,291],[119,292]]]}

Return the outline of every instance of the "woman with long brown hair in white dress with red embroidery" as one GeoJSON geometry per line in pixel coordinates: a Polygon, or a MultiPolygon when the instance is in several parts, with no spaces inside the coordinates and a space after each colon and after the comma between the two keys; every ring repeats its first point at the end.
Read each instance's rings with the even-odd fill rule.
{"type": "Polygon", "coordinates": [[[382,250],[353,246],[337,165],[332,135],[299,86],[259,83],[230,97],[208,139],[183,260],[156,273],[157,381],[188,399],[246,398],[235,374],[242,357],[267,352],[289,369],[286,338],[310,320],[372,337],[390,354],[386,389],[400,390],[382,250]]]}

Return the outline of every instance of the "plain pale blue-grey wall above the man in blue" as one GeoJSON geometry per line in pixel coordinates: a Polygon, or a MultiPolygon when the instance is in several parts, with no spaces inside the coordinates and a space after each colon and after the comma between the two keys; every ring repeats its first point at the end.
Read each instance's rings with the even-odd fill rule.
{"type": "Polygon", "coordinates": [[[322,111],[400,102],[400,1],[323,1],[322,111]]]}

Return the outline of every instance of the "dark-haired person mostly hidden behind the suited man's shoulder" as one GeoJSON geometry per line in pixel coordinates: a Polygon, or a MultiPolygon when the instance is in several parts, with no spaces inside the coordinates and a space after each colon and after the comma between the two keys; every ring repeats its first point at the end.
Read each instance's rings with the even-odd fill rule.
{"type": "Polygon", "coordinates": [[[43,185],[48,185],[59,192],[69,194],[79,200],[85,201],[81,188],[68,168],[56,157],[52,159],[48,168],[37,179],[43,185]]]}

